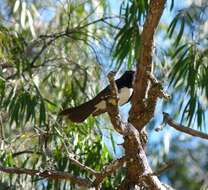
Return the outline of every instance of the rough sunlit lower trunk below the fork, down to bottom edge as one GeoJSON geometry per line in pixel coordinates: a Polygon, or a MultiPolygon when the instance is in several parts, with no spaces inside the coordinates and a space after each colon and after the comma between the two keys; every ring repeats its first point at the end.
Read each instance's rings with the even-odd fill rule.
{"type": "MultiPolygon", "coordinates": [[[[164,190],[164,186],[160,183],[157,176],[151,175],[152,169],[149,166],[146,153],[140,141],[139,131],[128,124],[129,135],[125,137],[124,148],[127,155],[131,156],[131,162],[127,163],[127,180],[133,184],[140,184],[151,190],[164,190]]],[[[129,189],[129,187],[123,187],[129,189]]]]}

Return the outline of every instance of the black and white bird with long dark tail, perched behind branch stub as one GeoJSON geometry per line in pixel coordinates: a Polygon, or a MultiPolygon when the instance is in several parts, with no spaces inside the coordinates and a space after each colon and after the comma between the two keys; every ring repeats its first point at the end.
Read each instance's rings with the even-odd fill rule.
{"type": "MultiPolygon", "coordinates": [[[[119,79],[117,79],[116,85],[118,88],[119,105],[126,104],[133,93],[133,79],[135,71],[126,71],[119,79]]],[[[93,99],[85,102],[77,107],[67,108],[61,111],[60,115],[67,116],[72,122],[83,122],[91,114],[93,116],[105,113],[106,110],[106,98],[110,93],[109,85],[103,89],[93,99]]]]}

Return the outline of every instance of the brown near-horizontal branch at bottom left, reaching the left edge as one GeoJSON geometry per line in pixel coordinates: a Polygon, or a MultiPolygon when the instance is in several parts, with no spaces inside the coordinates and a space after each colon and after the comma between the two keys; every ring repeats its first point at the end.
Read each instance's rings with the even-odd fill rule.
{"type": "Polygon", "coordinates": [[[27,174],[30,176],[44,177],[44,178],[53,179],[53,180],[64,179],[64,180],[69,180],[72,183],[75,183],[79,186],[83,186],[83,187],[91,186],[91,181],[89,181],[88,179],[74,176],[67,172],[62,172],[62,171],[54,171],[54,170],[39,171],[39,170],[32,170],[32,169],[25,169],[25,168],[4,167],[1,165],[0,165],[0,171],[6,172],[9,174],[27,174]]]}

